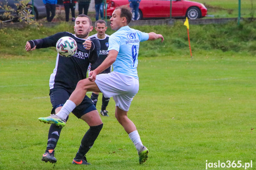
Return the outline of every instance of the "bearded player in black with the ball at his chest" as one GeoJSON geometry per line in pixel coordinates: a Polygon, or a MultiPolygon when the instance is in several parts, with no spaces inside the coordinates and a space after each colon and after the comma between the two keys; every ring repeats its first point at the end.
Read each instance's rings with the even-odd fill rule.
{"type": "MultiPolygon", "coordinates": [[[[35,48],[55,47],[58,39],[63,36],[70,36],[77,42],[77,52],[73,56],[64,57],[59,54],[57,55],[56,66],[50,76],[50,99],[53,105],[52,114],[60,111],[63,103],[66,102],[76,88],[77,82],[86,78],[89,64],[96,62],[98,59],[100,43],[97,39],[88,38],[92,30],[91,19],[87,15],[81,14],[75,20],[75,35],[68,32],[60,32],[26,43],[26,51],[33,51],[35,48]]],[[[93,101],[88,96],[85,96],[82,103],[72,112],[77,118],[84,120],[90,127],[82,138],[81,145],[72,163],[89,164],[87,163],[85,154],[98,137],[103,123],[93,101]]],[[[54,157],[54,149],[57,145],[61,129],[61,127],[51,124],[48,133],[47,148],[43,154],[42,161],[50,161],[51,163],[57,161],[54,157]]]]}

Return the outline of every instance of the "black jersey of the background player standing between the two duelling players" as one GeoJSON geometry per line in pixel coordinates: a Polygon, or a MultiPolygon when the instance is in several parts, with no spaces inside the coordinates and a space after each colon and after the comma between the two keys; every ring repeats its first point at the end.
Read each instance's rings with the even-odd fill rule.
{"type": "MultiPolygon", "coordinates": [[[[107,55],[108,55],[108,47],[109,47],[109,35],[105,34],[105,38],[104,39],[99,39],[97,34],[91,35],[89,36],[89,38],[96,38],[100,41],[101,44],[101,49],[100,49],[100,55],[98,60],[94,63],[91,64],[91,70],[96,69],[99,65],[101,65],[101,63],[106,59],[107,55]]],[[[106,70],[104,70],[102,73],[110,73],[111,67],[107,68],[106,70]]]]}

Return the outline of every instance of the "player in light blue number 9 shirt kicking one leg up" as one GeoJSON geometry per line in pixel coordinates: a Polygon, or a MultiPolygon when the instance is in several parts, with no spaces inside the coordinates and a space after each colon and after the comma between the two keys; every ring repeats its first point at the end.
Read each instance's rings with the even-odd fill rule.
{"type": "Polygon", "coordinates": [[[112,30],[117,31],[109,37],[109,56],[99,67],[90,72],[87,79],[77,83],[76,89],[58,114],[43,119],[52,124],[58,124],[56,122],[59,119],[66,119],[69,113],[81,103],[87,91],[103,93],[106,98],[113,97],[116,103],[115,117],[134,143],[141,164],[146,162],[149,151],[142,144],[136,126],[127,117],[131,101],[139,90],[137,74],[139,42],[158,38],[163,42],[164,38],[160,34],[143,33],[130,28],[128,24],[131,22],[131,18],[131,10],[126,6],[117,7],[114,10],[110,18],[110,26],[112,30]],[[113,64],[113,72],[98,75],[111,64],[113,64]]]}

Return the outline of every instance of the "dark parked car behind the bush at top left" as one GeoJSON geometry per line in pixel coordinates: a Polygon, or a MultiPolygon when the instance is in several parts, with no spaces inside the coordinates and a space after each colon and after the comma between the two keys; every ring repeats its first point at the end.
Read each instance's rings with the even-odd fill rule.
{"type": "Polygon", "coordinates": [[[28,21],[32,17],[34,17],[37,20],[46,17],[46,9],[42,0],[31,0],[28,3],[26,2],[28,1],[0,0],[0,20],[2,22],[12,20],[28,21]],[[22,4],[24,4],[25,7],[23,7],[22,4]],[[32,4],[34,4],[34,16],[32,4]]]}

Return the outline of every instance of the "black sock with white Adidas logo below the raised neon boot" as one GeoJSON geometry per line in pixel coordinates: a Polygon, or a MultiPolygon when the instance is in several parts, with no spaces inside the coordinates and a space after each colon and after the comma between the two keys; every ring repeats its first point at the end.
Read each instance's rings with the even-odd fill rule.
{"type": "MultiPolygon", "coordinates": [[[[66,121],[69,119],[69,116],[67,117],[66,121]]],[[[48,132],[48,142],[47,142],[47,148],[46,150],[55,149],[58,140],[60,138],[62,127],[56,126],[55,124],[51,124],[49,132],[48,132]]]]}

